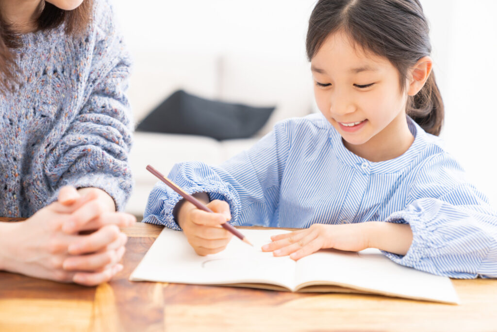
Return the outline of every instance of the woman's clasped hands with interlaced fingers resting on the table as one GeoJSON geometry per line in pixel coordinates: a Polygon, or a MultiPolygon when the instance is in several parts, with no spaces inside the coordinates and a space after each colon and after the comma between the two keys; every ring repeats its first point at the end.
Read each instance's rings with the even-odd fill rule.
{"type": "MultiPolygon", "coordinates": [[[[2,269],[37,278],[92,286],[109,281],[122,269],[126,235],[105,225],[81,235],[62,231],[67,207],[55,202],[26,221],[5,224],[2,269]]],[[[84,206],[79,210],[84,209],[84,206]]],[[[76,211],[76,212],[77,212],[76,211]]]]}

